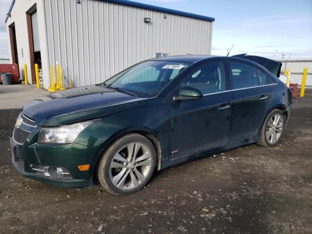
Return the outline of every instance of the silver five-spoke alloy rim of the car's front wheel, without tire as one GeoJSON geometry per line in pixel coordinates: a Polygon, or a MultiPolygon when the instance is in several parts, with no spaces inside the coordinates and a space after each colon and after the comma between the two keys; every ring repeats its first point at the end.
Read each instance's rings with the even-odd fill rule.
{"type": "Polygon", "coordinates": [[[113,157],[110,168],[110,180],[121,190],[139,186],[152,170],[152,155],[146,145],[133,142],[123,146],[113,157]]]}

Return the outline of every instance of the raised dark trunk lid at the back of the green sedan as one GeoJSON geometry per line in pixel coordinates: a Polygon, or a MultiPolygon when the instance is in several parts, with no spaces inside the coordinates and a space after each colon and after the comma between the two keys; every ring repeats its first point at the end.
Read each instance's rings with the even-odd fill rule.
{"type": "Polygon", "coordinates": [[[273,59],[267,59],[267,58],[254,56],[254,55],[247,55],[247,54],[234,55],[232,57],[247,59],[247,60],[256,62],[260,64],[261,66],[264,66],[266,69],[272,72],[276,77],[279,77],[279,75],[281,74],[282,63],[275,61],[273,59]]]}

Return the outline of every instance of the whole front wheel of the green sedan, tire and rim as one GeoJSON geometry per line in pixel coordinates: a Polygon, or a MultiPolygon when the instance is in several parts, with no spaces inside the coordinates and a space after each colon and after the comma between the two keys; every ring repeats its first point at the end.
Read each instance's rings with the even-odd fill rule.
{"type": "Polygon", "coordinates": [[[98,181],[111,194],[133,194],[150,180],[155,166],[152,142],[140,134],[128,134],[117,139],[102,155],[98,181]]]}

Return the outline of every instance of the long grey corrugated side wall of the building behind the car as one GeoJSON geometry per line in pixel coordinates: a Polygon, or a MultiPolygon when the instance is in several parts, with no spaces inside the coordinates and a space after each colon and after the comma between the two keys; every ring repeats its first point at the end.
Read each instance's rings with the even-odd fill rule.
{"type": "Polygon", "coordinates": [[[101,82],[156,52],[211,53],[210,21],[101,0],[44,0],[44,9],[48,65],[58,61],[75,86],[101,82]]]}

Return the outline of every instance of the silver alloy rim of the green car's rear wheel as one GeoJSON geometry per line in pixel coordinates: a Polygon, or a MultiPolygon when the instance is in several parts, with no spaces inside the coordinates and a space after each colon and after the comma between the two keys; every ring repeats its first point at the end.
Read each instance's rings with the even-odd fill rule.
{"type": "Polygon", "coordinates": [[[284,120],[280,114],[275,114],[270,118],[266,130],[266,138],[270,144],[274,144],[279,140],[283,132],[283,127],[284,120]]]}

